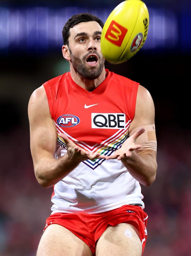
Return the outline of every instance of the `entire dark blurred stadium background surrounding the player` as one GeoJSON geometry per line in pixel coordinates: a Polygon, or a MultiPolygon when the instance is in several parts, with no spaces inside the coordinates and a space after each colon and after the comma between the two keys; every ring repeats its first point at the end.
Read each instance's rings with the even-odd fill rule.
{"type": "MultiPolygon", "coordinates": [[[[79,12],[104,22],[121,1],[0,2],[0,256],[35,256],[52,188],[38,185],[27,106],[45,81],[69,70],[62,27],[79,12]]],[[[145,256],[191,255],[191,2],[145,0],[148,38],[132,59],[105,67],[146,87],[155,103],[158,171],[142,186],[148,213],[145,256]]]]}

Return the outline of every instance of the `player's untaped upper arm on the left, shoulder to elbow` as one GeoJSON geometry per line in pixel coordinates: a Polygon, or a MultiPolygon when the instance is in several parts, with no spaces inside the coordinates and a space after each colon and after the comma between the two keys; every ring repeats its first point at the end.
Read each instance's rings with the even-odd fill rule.
{"type": "Polygon", "coordinates": [[[31,155],[34,168],[42,157],[54,158],[58,134],[51,118],[43,86],[36,89],[29,100],[31,155]]]}

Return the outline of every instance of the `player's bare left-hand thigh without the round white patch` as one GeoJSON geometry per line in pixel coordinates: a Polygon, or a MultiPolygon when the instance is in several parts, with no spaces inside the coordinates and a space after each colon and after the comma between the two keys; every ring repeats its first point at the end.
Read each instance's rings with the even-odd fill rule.
{"type": "Polygon", "coordinates": [[[46,228],[36,256],[92,256],[91,249],[71,231],[58,224],[46,228]]]}

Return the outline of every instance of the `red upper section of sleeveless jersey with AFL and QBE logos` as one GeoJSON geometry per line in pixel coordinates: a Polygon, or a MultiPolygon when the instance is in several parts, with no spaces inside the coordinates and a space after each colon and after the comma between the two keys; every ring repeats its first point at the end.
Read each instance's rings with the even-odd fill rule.
{"type": "Polygon", "coordinates": [[[114,135],[108,141],[112,144],[121,129],[127,131],[135,115],[139,84],[106,71],[105,80],[92,92],[76,84],[70,72],[43,84],[58,131],[93,153],[114,135]]]}

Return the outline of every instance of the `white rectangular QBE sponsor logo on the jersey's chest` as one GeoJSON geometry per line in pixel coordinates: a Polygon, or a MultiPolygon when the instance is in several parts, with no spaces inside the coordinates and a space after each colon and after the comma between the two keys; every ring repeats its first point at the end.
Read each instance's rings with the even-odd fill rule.
{"type": "Polygon", "coordinates": [[[91,113],[91,128],[124,129],[124,113],[91,113]]]}

